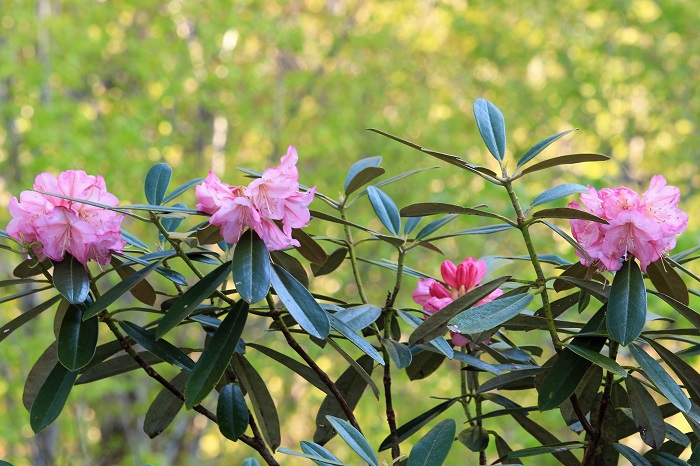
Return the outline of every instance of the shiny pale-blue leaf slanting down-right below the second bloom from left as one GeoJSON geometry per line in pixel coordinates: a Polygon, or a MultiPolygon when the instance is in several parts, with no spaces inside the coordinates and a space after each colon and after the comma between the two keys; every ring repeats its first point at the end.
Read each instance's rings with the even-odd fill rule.
{"type": "Polygon", "coordinates": [[[289,272],[277,264],[272,265],[272,286],[294,320],[316,338],[326,338],[331,331],[328,314],[289,272]]]}

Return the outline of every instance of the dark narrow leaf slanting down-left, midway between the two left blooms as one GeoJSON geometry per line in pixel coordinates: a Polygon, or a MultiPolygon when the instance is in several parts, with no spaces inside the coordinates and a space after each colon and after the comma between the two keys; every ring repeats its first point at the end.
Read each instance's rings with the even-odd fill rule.
{"type": "Polygon", "coordinates": [[[185,291],[161,319],[156,329],[156,338],[162,338],[163,335],[185,320],[202,301],[221,286],[230,273],[231,262],[226,262],[185,291]]]}

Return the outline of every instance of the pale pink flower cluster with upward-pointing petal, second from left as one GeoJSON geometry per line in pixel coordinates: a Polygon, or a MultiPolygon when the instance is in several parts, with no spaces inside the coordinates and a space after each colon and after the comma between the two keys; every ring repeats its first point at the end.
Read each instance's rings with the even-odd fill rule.
{"type": "Polygon", "coordinates": [[[229,186],[209,172],[196,188],[197,209],[212,214],[209,223],[221,227],[221,236],[228,243],[237,243],[246,228],[251,228],[270,251],[298,247],[292,229],[309,223],[309,204],[316,187],[299,191],[297,160],[296,149],[289,146],[277,167],[266,169],[245,188],[229,186]]]}

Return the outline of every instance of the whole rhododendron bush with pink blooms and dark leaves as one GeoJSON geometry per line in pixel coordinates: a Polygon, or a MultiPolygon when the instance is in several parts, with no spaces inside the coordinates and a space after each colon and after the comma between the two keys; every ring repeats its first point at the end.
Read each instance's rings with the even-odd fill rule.
{"type": "Polygon", "coordinates": [[[34,432],[57,419],[75,385],[138,371],[153,379],[145,434],[168,435],[175,416],[204,416],[239,442],[246,464],[700,465],[700,374],[688,359],[700,348],[700,317],[686,284],[700,277],[690,270],[698,248],[674,251],[688,225],[682,193],[662,175],[641,195],[595,180],[533,193],[527,181],[542,170],[608,157],[547,156],[565,131],[511,160],[499,109],[478,99],[474,115],[495,171],[372,131],[501,188],[505,211],[479,193],[465,193],[468,205],[399,208],[384,186],[423,169],[386,178],[380,157],[352,164],[332,197],[300,184],[313,175],[299,173],[304,148],[291,146],[275,167],[244,169],[247,185],[210,172],[171,189],[172,169],[156,164],[146,204],[121,205],[108,173],[38,175],[10,201],[1,246],[18,265],[0,281],[32,287],[4,303],[41,296],[0,340],[41,315],[57,323],[25,387],[34,432]],[[371,226],[356,220],[363,208],[371,226]],[[450,229],[458,216],[483,223],[450,229]],[[123,229],[137,222],[148,236],[123,229]],[[497,235],[521,253],[442,255],[441,240],[469,235],[497,235]],[[377,257],[377,242],[393,252],[377,257]],[[382,295],[368,291],[368,267],[392,277],[382,295]],[[352,286],[327,294],[313,280],[327,274],[352,286]],[[262,344],[261,324],[296,357],[262,344]],[[179,344],[185,334],[199,345],[179,344]],[[308,414],[313,438],[286,440],[251,353],[325,394],[308,414]],[[338,378],[321,354],[342,368],[338,378]],[[162,375],[167,366],[174,377],[162,375]],[[437,399],[422,413],[397,404],[405,383],[425,378],[457,379],[459,389],[430,394],[437,399]],[[363,433],[363,397],[385,419],[382,438],[363,433]],[[461,411],[449,410],[455,404],[461,411]],[[558,424],[540,414],[553,410],[558,424]],[[499,417],[513,429],[496,430],[499,417]],[[354,456],[333,452],[335,436],[354,456]],[[535,446],[512,448],[524,436],[535,446]]]}

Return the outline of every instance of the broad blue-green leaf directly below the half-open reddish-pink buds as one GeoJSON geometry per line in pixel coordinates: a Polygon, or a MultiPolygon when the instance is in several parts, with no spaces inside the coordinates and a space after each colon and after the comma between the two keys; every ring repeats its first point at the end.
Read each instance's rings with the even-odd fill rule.
{"type": "Polygon", "coordinates": [[[450,319],[447,328],[453,332],[466,334],[494,329],[520,314],[533,298],[533,295],[525,293],[471,307],[450,319]]]}

